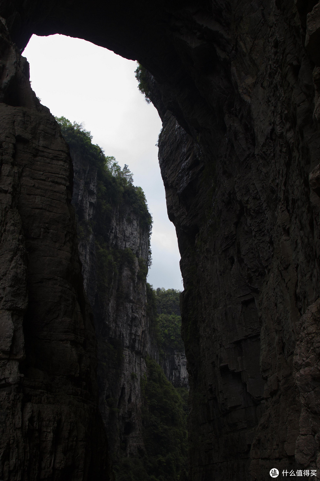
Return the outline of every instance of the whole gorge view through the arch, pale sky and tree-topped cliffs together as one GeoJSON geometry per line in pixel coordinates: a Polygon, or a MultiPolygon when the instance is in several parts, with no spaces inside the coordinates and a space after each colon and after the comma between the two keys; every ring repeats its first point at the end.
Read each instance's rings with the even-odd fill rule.
{"type": "Polygon", "coordinates": [[[115,479],[183,480],[189,384],[177,238],[157,161],[160,118],[137,89],[133,61],[62,35],[33,36],[23,55],[32,88],[70,148],[99,408],[115,479]]]}

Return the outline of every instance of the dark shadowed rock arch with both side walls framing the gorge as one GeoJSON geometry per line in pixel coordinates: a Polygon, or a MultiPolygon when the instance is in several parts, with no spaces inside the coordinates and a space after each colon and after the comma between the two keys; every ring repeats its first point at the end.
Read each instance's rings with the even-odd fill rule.
{"type": "MultiPolygon", "coordinates": [[[[319,477],[320,3],[16,0],[0,15],[18,49],[32,33],[62,33],[150,72],[184,279],[190,480],[267,480],[273,467],[319,477]]],[[[94,471],[75,468],[79,445],[96,453],[103,433],[70,158],[1,29],[2,476],[28,465],[28,479],[46,479],[60,459],[57,473],[65,463],[82,479],[94,471]],[[50,350],[67,362],[48,363],[50,350]],[[45,432],[43,462],[29,462],[45,432]]]]}

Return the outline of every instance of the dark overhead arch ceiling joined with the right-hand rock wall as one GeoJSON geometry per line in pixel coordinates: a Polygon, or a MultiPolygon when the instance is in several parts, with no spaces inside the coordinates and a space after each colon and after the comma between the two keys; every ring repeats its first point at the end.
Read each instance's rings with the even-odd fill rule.
{"type": "Polygon", "coordinates": [[[0,14],[20,48],[64,33],[152,74],[185,288],[190,479],[319,477],[319,3],[3,0],[0,14]]]}

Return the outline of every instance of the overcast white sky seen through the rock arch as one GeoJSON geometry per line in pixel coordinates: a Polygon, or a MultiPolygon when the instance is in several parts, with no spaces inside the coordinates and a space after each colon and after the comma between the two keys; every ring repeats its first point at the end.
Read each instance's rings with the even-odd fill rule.
{"type": "Polygon", "coordinates": [[[128,164],[133,183],[144,190],[153,216],[153,264],[148,282],[182,290],[176,232],[166,214],[165,189],[155,144],[161,120],[137,88],[137,65],[79,38],[32,36],[23,55],[41,103],[53,115],[83,122],[93,142],[128,164]]]}

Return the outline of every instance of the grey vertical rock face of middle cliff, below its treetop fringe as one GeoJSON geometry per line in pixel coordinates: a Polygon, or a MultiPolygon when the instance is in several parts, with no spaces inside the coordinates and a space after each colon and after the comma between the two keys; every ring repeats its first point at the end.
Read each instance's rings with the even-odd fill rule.
{"type": "Polygon", "coordinates": [[[100,411],[114,459],[135,456],[145,450],[141,413],[144,358],[147,354],[158,356],[146,312],[151,217],[150,225],[144,225],[132,198],[126,198],[133,186],[122,187],[118,193],[108,191],[107,186],[102,187],[97,167],[81,151],[71,147],[71,157],[79,253],[98,341],[100,411]]]}

